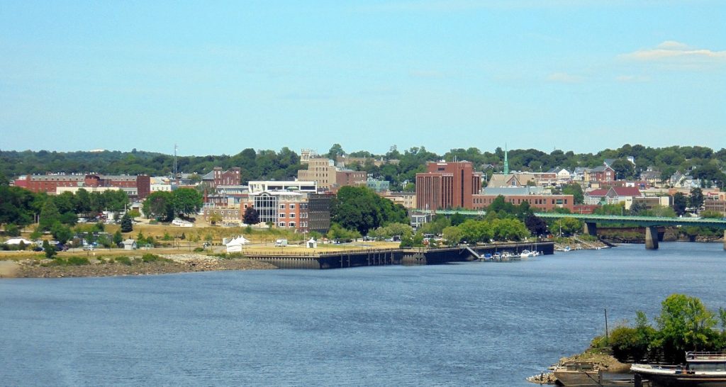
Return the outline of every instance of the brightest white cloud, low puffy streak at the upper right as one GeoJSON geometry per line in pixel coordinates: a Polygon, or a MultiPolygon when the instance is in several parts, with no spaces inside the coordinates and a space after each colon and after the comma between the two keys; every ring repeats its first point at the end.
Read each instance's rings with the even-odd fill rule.
{"type": "Polygon", "coordinates": [[[624,60],[639,62],[680,62],[682,64],[723,63],[726,51],[694,49],[678,41],[664,41],[653,49],[641,49],[620,56],[624,60]]]}

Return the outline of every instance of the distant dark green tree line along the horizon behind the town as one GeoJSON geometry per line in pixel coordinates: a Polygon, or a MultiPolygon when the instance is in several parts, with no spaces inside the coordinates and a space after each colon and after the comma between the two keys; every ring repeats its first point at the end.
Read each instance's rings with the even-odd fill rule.
{"type": "MultiPolygon", "coordinates": [[[[340,144],[333,144],[327,157],[335,158],[346,154],[340,144]]],[[[493,152],[481,151],[476,147],[457,148],[443,155],[426,150],[425,147],[411,147],[403,152],[394,145],[384,154],[374,154],[366,150],[347,153],[351,157],[378,158],[399,160],[375,166],[371,160],[363,164],[346,165],[391,182],[393,190],[413,190],[415,174],[425,171],[429,161],[436,160],[468,160],[478,171],[492,174],[501,171],[505,151],[497,147],[493,152]],[[492,168],[489,168],[492,166],[492,168]]],[[[726,149],[714,151],[709,147],[663,147],[653,148],[643,145],[624,144],[617,149],[605,149],[597,153],[574,153],[572,151],[553,150],[550,153],[535,149],[510,150],[508,160],[513,171],[547,171],[550,168],[595,167],[603,164],[605,159],[614,159],[612,166],[616,169],[619,179],[637,179],[640,172],[653,166],[661,172],[661,178],[667,179],[676,171],[690,171],[696,179],[703,179],[708,184],[720,186],[726,181],[723,169],[726,167],[726,149]],[[627,157],[635,158],[635,166],[627,157]]],[[[283,147],[279,151],[254,150],[248,148],[236,155],[179,156],[177,170],[179,172],[205,174],[213,167],[239,167],[242,169],[242,180],[293,179],[298,169],[304,168],[297,152],[283,147]]],[[[65,172],[67,174],[95,172],[99,174],[150,174],[152,176],[169,176],[174,170],[174,157],[158,152],[104,151],[104,152],[49,152],[30,150],[17,152],[0,150],[0,175],[19,176],[23,174],[45,174],[48,171],[65,172]]]]}

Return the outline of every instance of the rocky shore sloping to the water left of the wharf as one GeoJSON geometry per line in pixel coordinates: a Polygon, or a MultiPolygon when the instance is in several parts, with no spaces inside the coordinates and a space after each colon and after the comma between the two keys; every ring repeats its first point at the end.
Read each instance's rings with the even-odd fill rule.
{"type": "Polygon", "coordinates": [[[272,264],[246,258],[217,258],[202,254],[164,255],[158,261],[143,261],[141,257],[128,260],[89,259],[88,264],[60,265],[52,259],[26,259],[3,261],[0,278],[60,278],[110,277],[119,275],[171,274],[184,272],[211,272],[221,270],[277,269],[272,264]]]}

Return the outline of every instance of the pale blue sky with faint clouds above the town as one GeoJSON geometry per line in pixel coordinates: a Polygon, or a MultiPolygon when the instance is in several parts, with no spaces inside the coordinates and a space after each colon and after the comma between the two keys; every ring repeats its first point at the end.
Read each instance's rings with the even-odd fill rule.
{"type": "Polygon", "coordinates": [[[726,1],[0,2],[0,150],[726,147],[726,1]]]}

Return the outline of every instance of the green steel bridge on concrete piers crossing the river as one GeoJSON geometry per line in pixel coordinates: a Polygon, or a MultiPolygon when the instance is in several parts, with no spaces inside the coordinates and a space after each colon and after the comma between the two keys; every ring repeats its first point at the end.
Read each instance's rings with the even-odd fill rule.
{"type": "MultiPolygon", "coordinates": [[[[420,211],[432,213],[432,211],[420,211]]],[[[486,211],[476,210],[439,210],[433,213],[451,216],[460,213],[463,216],[485,216],[486,211]]],[[[585,215],[582,213],[554,213],[537,212],[534,215],[542,219],[578,219],[584,223],[584,232],[597,235],[597,224],[635,224],[645,227],[645,248],[655,250],[658,248],[658,230],[656,227],[711,227],[724,230],[724,250],[726,250],[726,219],[706,218],[664,218],[659,216],[630,216],[630,215],[585,215]]]]}

